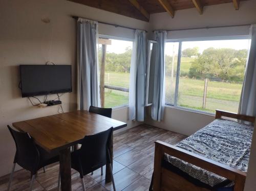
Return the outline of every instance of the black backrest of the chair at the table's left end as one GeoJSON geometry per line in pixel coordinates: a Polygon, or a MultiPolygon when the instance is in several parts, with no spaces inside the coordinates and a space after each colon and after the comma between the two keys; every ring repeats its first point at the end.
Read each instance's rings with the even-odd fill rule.
{"type": "Polygon", "coordinates": [[[39,163],[39,152],[33,139],[28,133],[15,131],[9,125],[8,129],[16,145],[16,154],[13,162],[34,173],[39,163]]]}

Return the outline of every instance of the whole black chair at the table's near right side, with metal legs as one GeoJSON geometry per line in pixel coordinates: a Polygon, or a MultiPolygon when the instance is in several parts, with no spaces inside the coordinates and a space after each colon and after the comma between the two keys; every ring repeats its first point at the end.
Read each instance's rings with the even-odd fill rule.
{"type": "Polygon", "coordinates": [[[116,190],[109,148],[112,133],[113,127],[95,135],[85,136],[81,148],[71,153],[71,168],[79,172],[83,191],[86,190],[83,176],[104,165],[109,165],[111,169],[111,180],[116,190]]]}

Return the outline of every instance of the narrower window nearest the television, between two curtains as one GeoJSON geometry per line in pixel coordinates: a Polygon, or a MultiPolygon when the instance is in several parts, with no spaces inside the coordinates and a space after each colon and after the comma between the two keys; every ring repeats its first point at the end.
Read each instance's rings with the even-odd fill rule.
{"type": "Polygon", "coordinates": [[[101,107],[129,104],[132,41],[99,38],[99,81],[101,107]]]}

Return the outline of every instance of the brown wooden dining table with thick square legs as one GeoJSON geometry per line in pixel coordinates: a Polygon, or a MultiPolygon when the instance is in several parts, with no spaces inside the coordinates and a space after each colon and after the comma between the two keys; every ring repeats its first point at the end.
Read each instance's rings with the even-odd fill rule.
{"type": "MultiPolygon", "coordinates": [[[[35,143],[48,152],[59,153],[61,190],[71,191],[71,147],[76,146],[86,135],[94,135],[113,127],[114,131],[127,124],[89,111],[79,110],[34,118],[12,124],[22,132],[28,132],[35,143]]],[[[113,135],[111,141],[113,164],[113,135]]],[[[107,168],[105,182],[111,181],[107,168]]]]}

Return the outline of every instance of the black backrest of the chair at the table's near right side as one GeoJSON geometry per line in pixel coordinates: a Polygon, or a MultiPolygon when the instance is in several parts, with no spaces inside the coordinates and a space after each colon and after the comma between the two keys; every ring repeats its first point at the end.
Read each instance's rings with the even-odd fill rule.
{"type": "Polygon", "coordinates": [[[91,173],[101,166],[110,163],[109,146],[113,127],[95,135],[85,136],[82,146],[77,151],[83,175],[91,173]]]}

